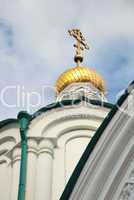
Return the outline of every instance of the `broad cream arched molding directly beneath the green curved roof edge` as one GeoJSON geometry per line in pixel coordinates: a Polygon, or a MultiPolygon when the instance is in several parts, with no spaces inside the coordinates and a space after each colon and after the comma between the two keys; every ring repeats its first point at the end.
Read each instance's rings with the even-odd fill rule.
{"type": "Polygon", "coordinates": [[[109,109],[94,107],[82,104],[76,108],[66,106],[44,113],[31,122],[28,137],[59,138],[62,134],[76,129],[96,131],[109,109]]]}

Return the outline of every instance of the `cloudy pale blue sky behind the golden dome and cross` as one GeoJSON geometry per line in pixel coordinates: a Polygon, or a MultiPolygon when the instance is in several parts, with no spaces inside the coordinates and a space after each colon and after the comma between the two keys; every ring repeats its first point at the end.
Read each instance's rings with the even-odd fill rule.
{"type": "MultiPolygon", "coordinates": [[[[0,0],[0,120],[29,110],[35,93],[43,96],[42,87],[53,87],[75,66],[72,28],[80,28],[91,47],[83,65],[102,75],[115,103],[134,79],[133,23],[134,0],[0,0]],[[33,96],[22,103],[25,93],[33,96]]],[[[54,101],[49,89],[30,112],[54,101]]]]}

